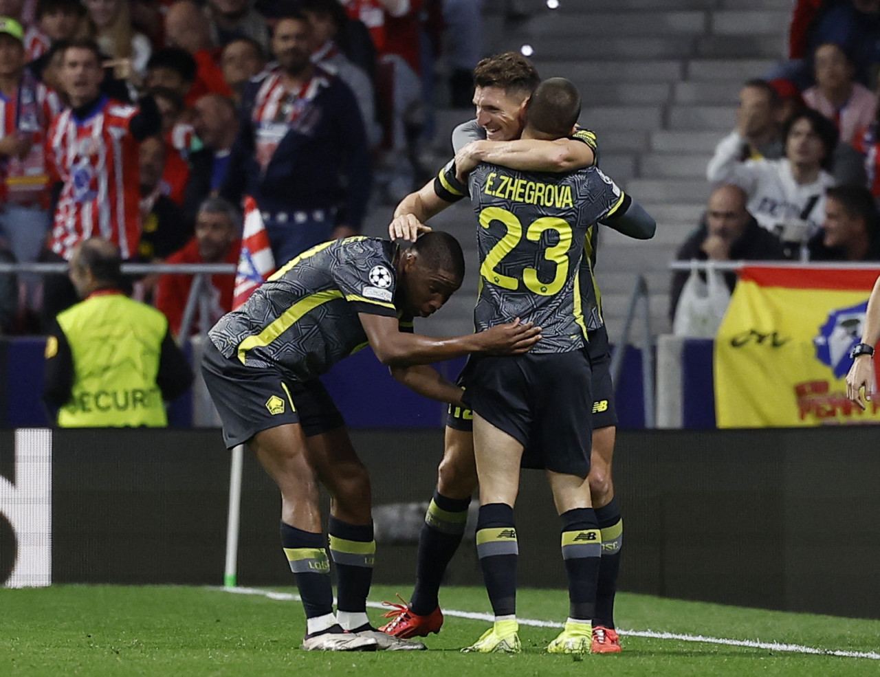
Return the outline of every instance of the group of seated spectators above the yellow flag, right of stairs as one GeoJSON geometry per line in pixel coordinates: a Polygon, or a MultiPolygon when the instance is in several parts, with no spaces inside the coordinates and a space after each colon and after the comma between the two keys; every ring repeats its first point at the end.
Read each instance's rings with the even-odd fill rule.
{"type": "MultiPolygon", "coordinates": [[[[788,37],[788,59],[739,91],[679,260],[880,261],[880,2],[798,0],[788,37]]],[[[673,325],[688,277],[673,274],[673,325]]]]}

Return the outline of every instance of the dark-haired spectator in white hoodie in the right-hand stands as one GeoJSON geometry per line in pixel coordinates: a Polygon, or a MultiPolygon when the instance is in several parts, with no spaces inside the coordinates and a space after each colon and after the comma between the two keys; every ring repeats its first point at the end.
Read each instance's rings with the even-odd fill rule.
{"type": "Polygon", "coordinates": [[[837,144],[837,129],[821,113],[807,109],[789,121],[783,138],[785,157],[743,162],[743,138],[730,135],[715,148],[706,174],[715,186],[742,187],[760,226],[783,241],[803,243],[818,231],[825,189],[834,185],[824,168],[837,144]]]}

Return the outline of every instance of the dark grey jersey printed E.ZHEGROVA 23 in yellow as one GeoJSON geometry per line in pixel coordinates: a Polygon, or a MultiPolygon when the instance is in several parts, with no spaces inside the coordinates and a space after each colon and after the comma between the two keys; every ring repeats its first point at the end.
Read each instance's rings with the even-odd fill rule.
{"type": "Polygon", "coordinates": [[[600,317],[595,292],[592,303],[582,297],[592,287],[580,279],[590,274],[588,231],[623,203],[620,188],[596,167],[548,174],[480,164],[468,189],[479,222],[477,331],[520,317],[541,327],[533,353],[583,347],[600,317]]]}

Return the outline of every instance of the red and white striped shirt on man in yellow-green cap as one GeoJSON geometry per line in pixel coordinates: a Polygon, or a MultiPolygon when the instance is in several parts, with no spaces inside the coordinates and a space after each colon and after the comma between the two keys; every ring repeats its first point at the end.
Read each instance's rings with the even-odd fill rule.
{"type": "Polygon", "coordinates": [[[0,139],[30,135],[26,157],[0,162],[0,204],[11,201],[48,207],[45,143],[49,125],[61,113],[61,98],[26,72],[12,98],[0,94],[0,139]]]}

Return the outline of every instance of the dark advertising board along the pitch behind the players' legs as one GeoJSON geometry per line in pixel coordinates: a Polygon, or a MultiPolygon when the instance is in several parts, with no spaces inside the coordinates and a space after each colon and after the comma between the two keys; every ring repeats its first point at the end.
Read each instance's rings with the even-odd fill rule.
{"type": "MultiPolygon", "coordinates": [[[[47,538],[38,515],[46,492],[42,499],[23,493],[47,472],[52,582],[222,581],[230,459],[219,433],[41,433],[40,440],[50,440],[49,465],[34,462],[33,448],[21,448],[20,433],[17,445],[14,432],[0,431],[0,581],[10,585],[23,553],[47,538]]],[[[880,617],[876,434],[868,426],[620,432],[615,482],[626,523],[622,589],[880,617]]],[[[398,430],[352,437],[373,477],[380,542],[375,579],[408,593],[443,435],[398,430]]],[[[247,456],[245,466],[239,583],[289,586],[275,487],[253,458],[247,456]]],[[[524,474],[517,508],[521,585],[564,587],[560,525],[542,473],[524,474]]],[[[470,535],[449,582],[481,583],[470,535]]]]}

